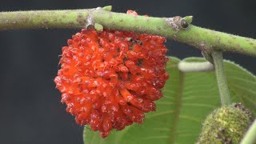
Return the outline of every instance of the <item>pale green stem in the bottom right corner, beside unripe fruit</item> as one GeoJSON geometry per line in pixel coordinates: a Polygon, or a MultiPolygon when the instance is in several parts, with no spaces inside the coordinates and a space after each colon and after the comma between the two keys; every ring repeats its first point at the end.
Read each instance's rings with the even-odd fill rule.
{"type": "Polygon", "coordinates": [[[242,142],[240,144],[254,144],[256,142],[256,119],[254,123],[250,126],[250,129],[246,132],[242,142]]]}

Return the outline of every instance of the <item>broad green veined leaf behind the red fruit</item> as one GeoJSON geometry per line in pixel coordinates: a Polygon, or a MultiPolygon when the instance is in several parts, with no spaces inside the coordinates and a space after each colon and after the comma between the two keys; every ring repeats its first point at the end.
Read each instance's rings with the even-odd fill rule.
{"type": "MultiPolygon", "coordinates": [[[[203,58],[186,58],[187,62],[205,62],[203,58]]],[[[170,58],[166,70],[170,79],[163,90],[164,97],[155,102],[157,111],[146,114],[142,125],[133,124],[124,130],[113,130],[100,138],[88,126],[84,130],[86,144],[155,144],[194,143],[202,122],[220,106],[214,72],[182,73],[178,58],[170,58]]],[[[256,78],[241,66],[225,61],[226,77],[232,102],[242,102],[256,114],[256,78]]]]}

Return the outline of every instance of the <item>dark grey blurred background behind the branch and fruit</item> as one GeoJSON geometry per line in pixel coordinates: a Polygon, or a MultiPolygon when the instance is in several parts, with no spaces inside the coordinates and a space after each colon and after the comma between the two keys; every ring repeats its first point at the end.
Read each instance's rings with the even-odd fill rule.
{"type": "MultiPolygon", "coordinates": [[[[194,25],[256,38],[254,0],[8,0],[0,11],[86,9],[112,5],[156,17],[194,15],[194,25]]],[[[82,144],[82,126],[66,113],[55,89],[58,55],[79,30],[0,31],[0,144],[82,144]]],[[[168,40],[169,54],[201,56],[191,46],[168,40]]],[[[256,74],[255,58],[225,53],[256,74]]]]}

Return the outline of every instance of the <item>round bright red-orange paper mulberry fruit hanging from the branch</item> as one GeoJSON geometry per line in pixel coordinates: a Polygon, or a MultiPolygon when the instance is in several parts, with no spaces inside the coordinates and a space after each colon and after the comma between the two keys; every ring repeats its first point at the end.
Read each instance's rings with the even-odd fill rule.
{"type": "Polygon", "coordinates": [[[110,130],[142,123],[165,85],[165,38],[150,34],[82,30],[62,47],[54,79],[66,111],[102,138],[110,130]]]}

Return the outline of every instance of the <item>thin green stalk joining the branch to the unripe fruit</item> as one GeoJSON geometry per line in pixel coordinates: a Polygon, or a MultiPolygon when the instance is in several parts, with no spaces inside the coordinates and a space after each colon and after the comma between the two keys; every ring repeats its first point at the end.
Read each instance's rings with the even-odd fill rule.
{"type": "Polygon", "coordinates": [[[230,91],[226,82],[226,74],[223,66],[222,52],[214,51],[212,53],[212,57],[214,59],[215,73],[218,82],[218,91],[220,94],[222,106],[230,105],[230,91]]]}

